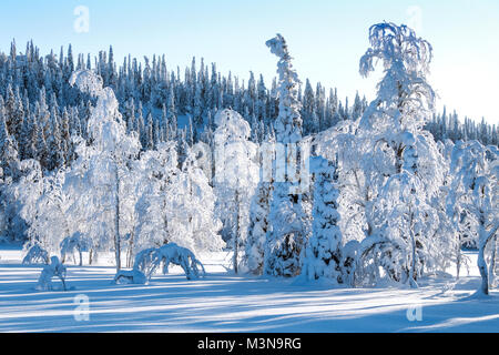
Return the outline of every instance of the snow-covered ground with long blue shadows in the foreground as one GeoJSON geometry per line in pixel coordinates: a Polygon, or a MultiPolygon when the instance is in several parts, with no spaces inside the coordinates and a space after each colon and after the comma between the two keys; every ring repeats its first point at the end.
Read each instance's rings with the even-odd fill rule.
{"type": "Polygon", "coordinates": [[[420,288],[330,288],[292,280],[235,276],[226,254],[202,255],[205,278],[180,268],[150,285],[114,285],[114,267],[68,265],[68,292],[34,290],[39,266],[0,251],[0,332],[499,332],[499,291],[468,298],[479,277],[421,282],[420,288]],[[204,257],[203,257],[204,256],[204,257]],[[89,320],[84,304],[89,297],[89,320]],[[75,317],[77,315],[77,317],[75,317]],[[78,321],[80,318],[81,321],[78,321]]]}

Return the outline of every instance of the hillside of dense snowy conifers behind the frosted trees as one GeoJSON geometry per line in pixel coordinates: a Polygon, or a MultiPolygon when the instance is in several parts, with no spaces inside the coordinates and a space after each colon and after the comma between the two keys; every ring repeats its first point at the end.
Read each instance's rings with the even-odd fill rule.
{"type": "MultiPolygon", "coordinates": [[[[95,70],[104,87],[114,90],[128,130],[139,133],[143,150],[169,140],[190,145],[210,141],[214,113],[223,108],[240,112],[251,124],[252,141],[262,142],[266,133],[272,134],[278,113],[275,78],[267,88],[262,75],[249,72],[247,80],[231,73],[225,77],[215,63],[206,64],[203,59],[193,59],[181,71],[169,68],[164,55],[145,57],[143,62],[129,55],[118,65],[112,47],[92,59],[73,54],[71,45],[65,52],[61,48],[59,54],[42,55],[32,42],[23,52],[12,42],[10,53],[0,53],[0,113],[20,160],[34,158],[44,170],[53,170],[73,159],[73,133],[88,139],[91,99],[69,84],[71,73],[79,69],[95,70]]],[[[336,89],[313,85],[308,80],[303,80],[298,100],[304,134],[356,120],[367,106],[367,100],[358,94],[354,100],[340,100],[336,89]]],[[[485,120],[462,121],[456,112],[429,118],[426,128],[437,140],[499,143],[496,125],[485,120]]]]}

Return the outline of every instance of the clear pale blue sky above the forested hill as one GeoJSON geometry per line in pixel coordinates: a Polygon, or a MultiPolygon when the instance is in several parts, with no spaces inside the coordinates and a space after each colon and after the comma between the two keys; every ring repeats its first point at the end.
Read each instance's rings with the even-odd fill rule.
{"type": "Polygon", "coordinates": [[[370,24],[407,23],[434,47],[430,82],[464,115],[499,122],[499,1],[404,0],[2,0],[0,50],[14,38],[23,51],[33,39],[43,54],[73,44],[96,54],[113,45],[116,61],[165,54],[170,69],[192,57],[216,62],[247,80],[248,71],[275,75],[276,58],[265,41],[276,32],[289,44],[302,79],[336,87],[342,98],[358,89],[373,99],[377,77],[363,79],[358,61],[368,47],[370,24]],[[79,6],[89,10],[74,13],[79,6]],[[77,28],[75,28],[77,24],[77,28]]]}

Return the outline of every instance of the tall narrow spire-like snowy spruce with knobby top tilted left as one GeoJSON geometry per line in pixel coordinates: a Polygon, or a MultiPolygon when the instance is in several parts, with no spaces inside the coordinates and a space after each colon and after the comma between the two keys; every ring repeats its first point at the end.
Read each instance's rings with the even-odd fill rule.
{"type": "Polygon", "coordinates": [[[298,186],[298,161],[305,161],[302,149],[302,118],[298,101],[298,78],[292,65],[287,43],[281,34],[266,42],[277,62],[279,110],[276,132],[276,179],[273,184],[269,220],[265,246],[265,273],[275,276],[296,276],[301,273],[302,254],[309,235],[305,204],[307,195],[298,186]],[[298,159],[301,158],[301,159],[298,159]]]}

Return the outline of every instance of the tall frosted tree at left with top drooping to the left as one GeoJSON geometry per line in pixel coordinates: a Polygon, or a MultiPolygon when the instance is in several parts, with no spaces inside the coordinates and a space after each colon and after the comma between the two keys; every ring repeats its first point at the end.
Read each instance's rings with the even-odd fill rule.
{"type": "MultiPolygon", "coordinates": [[[[140,142],[134,134],[126,134],[126,125],[118,111],[118,100],[111,88],[102,87],[102,79],[92,71],[78,71],[71,77],[71,84],[81,91],[96,97],[96,106],[93,108],[88,123],[88,131],[92,144],[84,143],[79,146],[79,160],[74,170],[84,174],[82,191],[77,191],[77,203],[86,215],[89,224],[103,225],[112,221],[110,231],[113,237],[116,268],[121,267],[121,204],[123,175],[129,170],[130,160],[140,150],[140,142]],[[85,200],[85,201],[82,201],[85,200]],[[88,203],[89,199],[93,203],[88,203]],[[95,211],[95,207],[103,211],[95,211]]],[[[100,231],[96,232],[101,234],[100,231]]]]}

